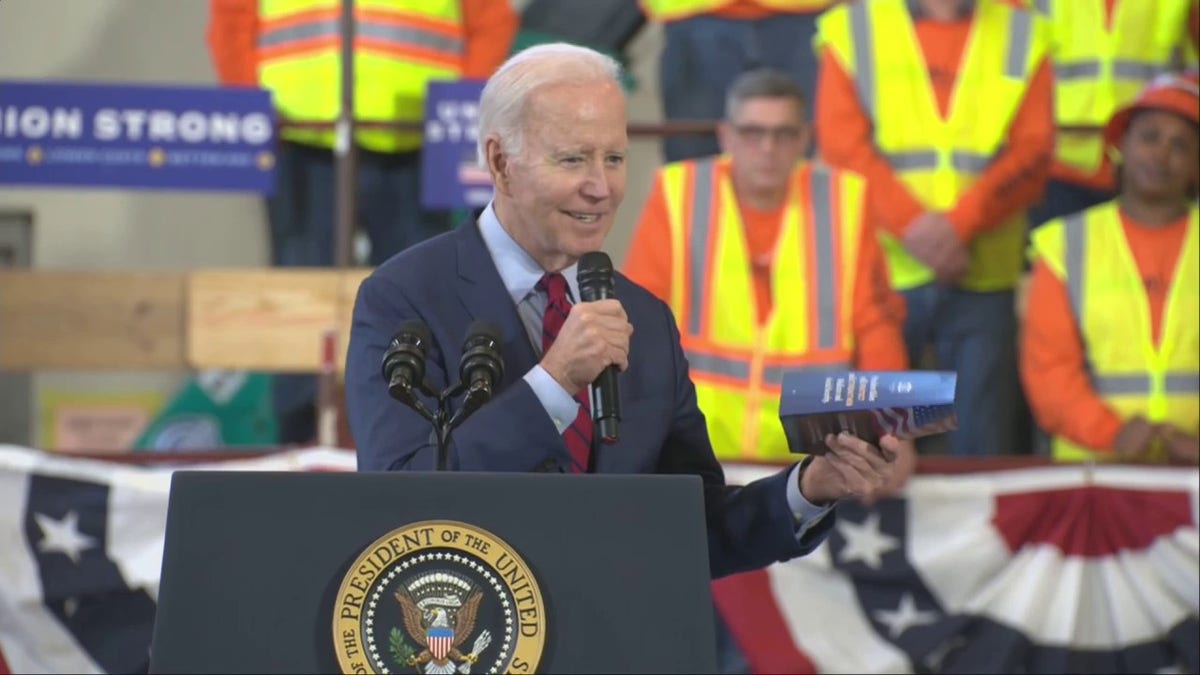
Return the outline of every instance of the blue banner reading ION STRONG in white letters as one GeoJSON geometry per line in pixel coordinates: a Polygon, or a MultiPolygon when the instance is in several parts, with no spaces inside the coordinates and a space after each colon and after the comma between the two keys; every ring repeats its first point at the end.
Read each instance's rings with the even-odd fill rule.
{"type": "Polygon", "coordinates": [[[275,189],[260,89],[0,82],[0,185],[275,189]]]}

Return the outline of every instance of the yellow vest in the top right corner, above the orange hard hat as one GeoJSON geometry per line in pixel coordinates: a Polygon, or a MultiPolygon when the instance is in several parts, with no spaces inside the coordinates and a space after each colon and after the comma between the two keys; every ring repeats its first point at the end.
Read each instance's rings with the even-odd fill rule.
{"type": "MultiPolygon", "coordinates": [[[[1033,0],[1051,25],[1055,118],[1060,126],[1102,127],[1156,76],[1195,64],[1187,32],[1193,0],[1117,0],[1111,29],[1105,0],[1033,0]]],[[[1060,162],[1086,174],[1104,160],[1098,131],[1056,135],[1060,162]]]]}

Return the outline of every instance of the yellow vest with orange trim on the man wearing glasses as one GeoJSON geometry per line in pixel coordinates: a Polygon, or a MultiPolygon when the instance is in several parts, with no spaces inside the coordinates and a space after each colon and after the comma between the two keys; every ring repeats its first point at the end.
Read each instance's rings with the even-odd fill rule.
{"type": "Polygon", "coordinates": [[[666,165],[671,309],[721,459],[794,458],[779,420],[784,372],[850,366],[864,181],[800,165],[791,177],[760,324],[728,159],[666,165]]]}

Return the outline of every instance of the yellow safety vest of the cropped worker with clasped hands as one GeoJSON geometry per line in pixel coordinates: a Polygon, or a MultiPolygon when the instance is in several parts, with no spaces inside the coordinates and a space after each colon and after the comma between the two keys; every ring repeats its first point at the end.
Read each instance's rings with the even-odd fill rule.
{"type": "MultiPolygon", "coordinates": [[[[979,0],[949,119],[942,119],[905,0],[857,0],[817,19],[817,42],[853,78],[875,126],[875,145],[900,180],[935,211],[954,207],[1003,149],[1033,71],[1045,55],[1045,22],[1033,12],[979,0]]],[[[976,237],[972,291],[1013,288],[1021,270],[1025,213],[976,237]]],[[[892,282],[908,289],[934,271],[881,233],[892,282]]]]}

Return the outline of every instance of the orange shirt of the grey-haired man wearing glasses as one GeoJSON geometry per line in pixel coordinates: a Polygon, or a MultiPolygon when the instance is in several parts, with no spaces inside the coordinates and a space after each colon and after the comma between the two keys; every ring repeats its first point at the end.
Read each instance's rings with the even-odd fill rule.
{"type": "MultiPolygon", "coordinates": [[[[751,261],[770,261],[782,226],[784,205],[770,211],[740,208],[742,225],[751,261]]],[[[662,301],[671,301],[671,225],[661,174],[655,178],[646,208],[642,210],[623,271],[662,301]]],[[[870,219],[868,219],[869,221],[870,219]]],[[[770,264],[751,264],[755,306],[760,323],[774,307],[770,293],[770,264]]],[[[853,297],[854,366],[862,370],[904,370],[908,368],[905,350],[904,298],[892,291],[883,251],[875,231],[863,228],[858,277],[853,297]]]]}

